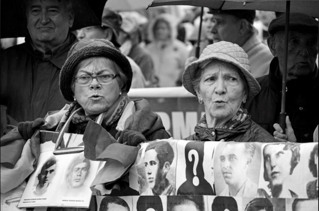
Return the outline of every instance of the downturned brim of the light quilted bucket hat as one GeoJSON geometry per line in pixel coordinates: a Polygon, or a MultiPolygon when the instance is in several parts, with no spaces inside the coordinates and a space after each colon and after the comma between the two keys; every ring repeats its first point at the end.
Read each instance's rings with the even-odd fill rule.
{"type": "Polygon", "coordinates": [[[206,55],[202,58],[199,58],[198,60],[190,63],[182,76],[182,83],[183,86],[185,87],[185,89],[187,91],[189,91],[190,93],[194,94],[195,96],[197,96],[196,91],[194,89],[194,86],[192,84],[192,78],[195,76],[196,72],[199,71],[199,65],[205,61],[208,60],[213,60],[213,59],[217,59],[219,61],[223,61],[223,62],[227,62],[230,64],[235,65],[236,67],[238,67],[241,72],[244,74],[247,83],[248,83],[248,87],[249,87],[249,94],[247,97],[247,100],[251,99],[253,96],[255,96],[256,94],[259,93],[260,91],[260,86],[259,83],[257,82],[257,80],[251,75],[251,73],[245,68],[243,67],[236,59],[234,59],[233,57],[224,54],[224,53],[218,53],[218,52],[214,52],[211,53],[209,55],[206,55]]]}

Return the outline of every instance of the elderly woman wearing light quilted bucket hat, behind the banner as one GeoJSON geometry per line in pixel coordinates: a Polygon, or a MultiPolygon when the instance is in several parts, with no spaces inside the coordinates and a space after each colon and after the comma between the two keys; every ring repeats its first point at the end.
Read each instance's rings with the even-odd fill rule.
{"type": "Polygon", "coordinates": [[[245,51],[220,41],[208,45],[182,76],[183,86],[204,104],[205,114],[186,140],[276,142],[242,105],[260,91],[245,51]]]}

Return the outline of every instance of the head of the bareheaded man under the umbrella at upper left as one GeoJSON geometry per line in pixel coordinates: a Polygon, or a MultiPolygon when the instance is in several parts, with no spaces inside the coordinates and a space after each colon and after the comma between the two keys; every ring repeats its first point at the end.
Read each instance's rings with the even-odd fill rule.
{"type": "Polygon", "coordinates": [[[30,0],[27,11],[27,27],[35,43],[60,45],[73,25],[73,11],[68,11],[65,1],[30,0]]]}

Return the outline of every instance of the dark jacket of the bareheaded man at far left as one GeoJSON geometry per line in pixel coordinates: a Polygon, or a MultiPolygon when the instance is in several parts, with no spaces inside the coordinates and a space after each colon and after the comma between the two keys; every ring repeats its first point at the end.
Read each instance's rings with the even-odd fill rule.
{"type": "Polygon", "coordinates": [[[3,51],[0,103],[19,122],[44,117],[48,111],[67,103],[59,89],[60,70],[69,49],[78,40],[70,33],[67,41],[49,57],[33,50],[30,36],[25,43],[3,51]]]}

